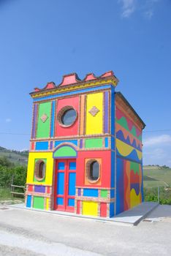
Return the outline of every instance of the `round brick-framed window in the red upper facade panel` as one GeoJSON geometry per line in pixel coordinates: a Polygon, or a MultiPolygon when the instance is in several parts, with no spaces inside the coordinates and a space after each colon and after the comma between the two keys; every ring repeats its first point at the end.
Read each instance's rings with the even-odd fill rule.
{"type": "Polygon", "coordinates": [[[62,108],[58,113],[58,122],[61,126],[69,127],[74,124],[77,118],[77,111],[71,106],[62,108]]]}

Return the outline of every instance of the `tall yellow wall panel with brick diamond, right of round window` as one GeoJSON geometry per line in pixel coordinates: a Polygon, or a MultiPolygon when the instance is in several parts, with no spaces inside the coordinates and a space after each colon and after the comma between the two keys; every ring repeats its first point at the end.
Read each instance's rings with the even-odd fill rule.
{"type": "Polygon", "coordinates": [[[103,132],[103,93],[87,95],[86,104],[86,135],[99,134],[103,132]],[[92,116],[88,111],[92,107],[99,109],[96,116],[92,116]]]}

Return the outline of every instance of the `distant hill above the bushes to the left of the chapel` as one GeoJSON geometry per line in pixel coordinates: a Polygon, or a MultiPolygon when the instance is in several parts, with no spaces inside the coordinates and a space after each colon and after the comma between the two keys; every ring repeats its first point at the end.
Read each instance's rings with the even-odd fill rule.
{"type": "Polygon", "coordinates": [[[0,157],[7,157],[15,165],[27,165],[28,151],[10,150],[0,146],[0,157]]]}

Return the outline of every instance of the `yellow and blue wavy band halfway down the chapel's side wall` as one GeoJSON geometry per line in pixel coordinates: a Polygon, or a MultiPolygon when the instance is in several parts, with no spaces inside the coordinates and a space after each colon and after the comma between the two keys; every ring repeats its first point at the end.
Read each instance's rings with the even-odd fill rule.
{"type": "Polygon", "coordinates": [[[132,146],[123,143],[123,141],[116,139],[116,153],[119,157],[133,160],[135,162],[142,161],[142,152],[133,148],[132,146]]]}

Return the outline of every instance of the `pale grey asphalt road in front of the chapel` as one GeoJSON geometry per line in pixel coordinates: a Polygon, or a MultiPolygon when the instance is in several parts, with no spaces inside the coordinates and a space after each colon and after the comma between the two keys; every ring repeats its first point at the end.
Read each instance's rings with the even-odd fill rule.
{"type": "Polygon", "coordinates": [[[137,226],[0,206],[0,255],[171,255],[171,206],[137,226]]]}

